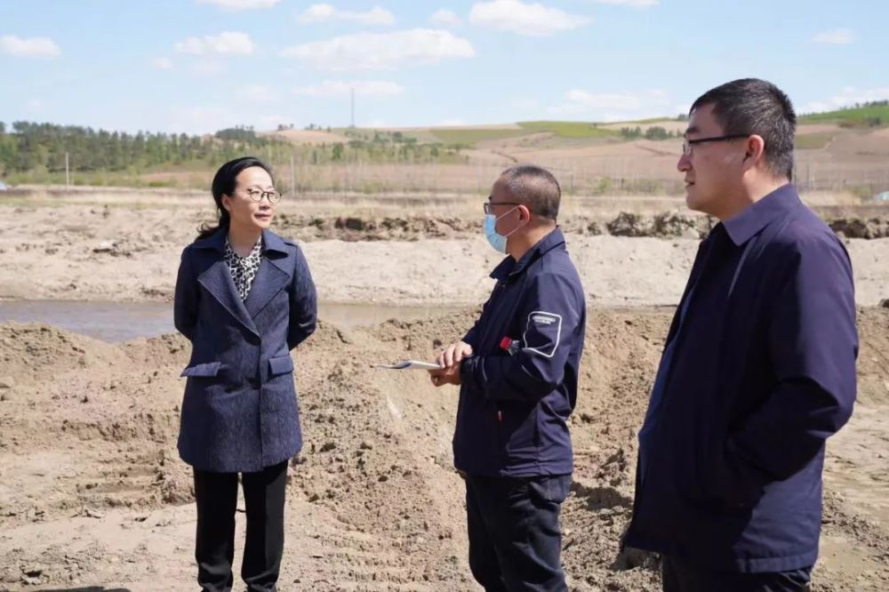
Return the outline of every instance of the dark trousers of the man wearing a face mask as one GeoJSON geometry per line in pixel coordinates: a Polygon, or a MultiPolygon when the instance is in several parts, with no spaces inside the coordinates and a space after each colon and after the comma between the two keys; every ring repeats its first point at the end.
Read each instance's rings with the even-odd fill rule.
{"type": "Polygon", "coordinates": [[[488,592],[567,590],[558,515],[571,476],[466,477],[469,569],[488,592]]]}

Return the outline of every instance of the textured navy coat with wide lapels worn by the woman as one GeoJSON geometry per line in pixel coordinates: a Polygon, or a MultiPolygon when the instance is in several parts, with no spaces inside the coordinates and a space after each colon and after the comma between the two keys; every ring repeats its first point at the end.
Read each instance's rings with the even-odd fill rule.
{"type": "Polygon", "coordinates": [[[241,300],[224,260],[227,232],[182,252],[174,321],[192,351],[179,452],[201,470],[254,472],[300,451],[290,350],[315,331],[316,292],[300,248],[263,230],[260,268],[241,300]]]}

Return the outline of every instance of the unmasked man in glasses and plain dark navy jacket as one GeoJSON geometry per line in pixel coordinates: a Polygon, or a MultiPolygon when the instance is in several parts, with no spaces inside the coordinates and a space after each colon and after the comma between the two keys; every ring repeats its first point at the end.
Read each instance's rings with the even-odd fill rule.
{"type": "Polygon", "coordinates": [[[853,273],[790,184],[796,116],[745,79],[696,100],[678,169],[701,243],[639,432],[625,544],[663,589],[807,589],[824,441],[855,399],[853,273]]]}

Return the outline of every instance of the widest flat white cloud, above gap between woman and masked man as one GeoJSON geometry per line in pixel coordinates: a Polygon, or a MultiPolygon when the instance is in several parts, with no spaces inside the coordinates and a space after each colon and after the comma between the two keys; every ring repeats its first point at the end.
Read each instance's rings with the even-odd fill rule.
{"type": "Polygon", "coordinates": [[[359,33],[294,45],[281,52],[321,70],[381,70],[471,58],[472,44],[440,29],[413,28],[393,33],[359,33]]]}

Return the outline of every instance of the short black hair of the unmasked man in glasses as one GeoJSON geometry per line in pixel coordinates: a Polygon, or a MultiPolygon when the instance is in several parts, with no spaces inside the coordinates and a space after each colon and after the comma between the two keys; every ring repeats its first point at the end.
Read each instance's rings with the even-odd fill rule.
{"type": "Polygon", "coordinates": [[[789,97],[774,84],[741,78],[703,93],[689,109],[713,106],[725,135],[756,134],[765,140],[765,163],[775,177],[793,179],[797,114],[789,97]]]}

